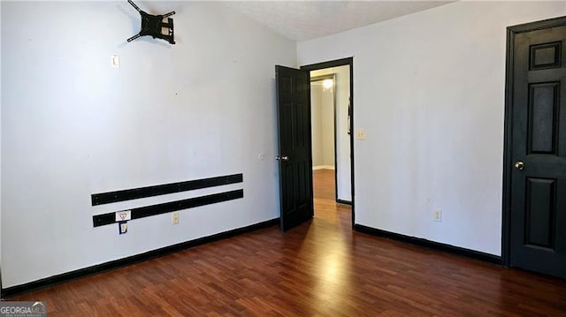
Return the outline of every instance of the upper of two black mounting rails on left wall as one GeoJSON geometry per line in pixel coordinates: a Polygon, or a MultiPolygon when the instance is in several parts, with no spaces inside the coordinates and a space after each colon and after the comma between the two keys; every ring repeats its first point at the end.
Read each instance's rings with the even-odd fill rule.
{"type": "Polygon", "coordinates": [[[138,198],[164,195],[173,192],[186,192],[219,185],[241,183],[242,181],[242,174],[233,174],[219,177],[201,178],[179,183],[125,189],[116,192],[93,193],[90,198],[92,200],[92,206],[96,206],[124,200],[135,200],[138,198]]]}

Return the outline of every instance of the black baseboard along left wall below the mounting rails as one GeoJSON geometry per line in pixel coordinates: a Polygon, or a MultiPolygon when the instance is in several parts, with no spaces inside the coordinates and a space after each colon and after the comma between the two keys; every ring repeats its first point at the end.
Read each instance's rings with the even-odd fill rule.
{"type": "Polygon", "coordinates": [[[41,280],[38,281],[7,287],[5,289],[2,289],[1,298],[3,299],[11,298],[19,294],[27,293],[29,291],[36,291],[60,283],[71,282],[81,277],[96,275],[98,273],[106,272],[115,268],[123,268],[128,265],[139,263],[145,260],[151,260],[170,253],[176,253],[191,247],[195,247],[197,245],[204,245],[221,239],[232,238],[234,236],[238,236],[251,231],[269,228],[274,225],[279,225],[279,218],[267,220],[262,223],[255,223],[247,227],[220,232],[208,237],[197,238],[195,240],[190,240],[187,242],[181,242],[180,244],[177,245],[165,246],[157,250],[152,250],[147,253],[132,255],[124,259],[111,260],[110,262],[98,264],[92,267],[80,268],[72,272],[67,272],[60,275],[54,275],[54,276],[42,278],[41,280]]]}

